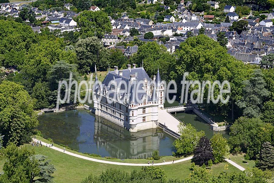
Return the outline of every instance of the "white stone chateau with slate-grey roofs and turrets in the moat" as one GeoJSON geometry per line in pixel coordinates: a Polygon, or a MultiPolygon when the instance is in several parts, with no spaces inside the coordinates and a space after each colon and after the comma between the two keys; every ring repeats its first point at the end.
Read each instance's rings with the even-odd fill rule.
{"type": "Polygon", "coordinates": [[[156,128],[158,108],[163,108],[164,85],[159,69],[150,79],[136,64],[109,71],[102,84],[97,75],[93,86],[94,113],[125,127],[130,132],[156,128]]]}

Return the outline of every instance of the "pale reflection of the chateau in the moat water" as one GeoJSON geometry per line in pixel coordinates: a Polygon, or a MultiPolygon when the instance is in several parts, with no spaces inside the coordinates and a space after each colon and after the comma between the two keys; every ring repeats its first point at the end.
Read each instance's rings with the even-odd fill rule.
{"type": "Polygon", "coordinates": [[[166,137],[160,128],[131,133],[102,117],[95,118],[93,137],[97,148],[105,148],[112,157],[146,159],[160,149],[160,140],[166,137]]]}

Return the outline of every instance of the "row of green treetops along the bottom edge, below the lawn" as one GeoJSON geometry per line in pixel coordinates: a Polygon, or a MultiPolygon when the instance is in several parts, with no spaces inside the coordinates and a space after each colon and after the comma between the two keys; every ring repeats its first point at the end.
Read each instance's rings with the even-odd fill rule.
{"type": "Polygon", "coordinates": [[[121,170],[110,169],[102,172],[100,176],[90,174],[81,183],[213,183],[213,182],[239,182],[239,183],[266,183],[272,180],[273,172],[262,171],[257,168],[240,172],[222,172],[211,176],[210,171],[204,167],[193,167],[189,177],[185,180],[169,179],[164,170],[158,166],[143,167],[141,170],[133,170],[127,173],[121,170]]]}

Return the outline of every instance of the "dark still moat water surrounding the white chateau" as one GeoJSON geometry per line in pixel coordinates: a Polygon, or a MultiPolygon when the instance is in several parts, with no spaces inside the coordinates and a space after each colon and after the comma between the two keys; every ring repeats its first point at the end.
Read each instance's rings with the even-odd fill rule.
{"type": "MultiPolygon", "coordinates": [[[[208,138],[216,133],[194,113],[177,113],[176,117],[191,123],[198,131],[205,131],[208,138]]],[[[154,150],[159,150],[160,156],[171,156],[176,151],[172,145],[175,138],[161,128],[131,133],[86,110],[46,113],[38,120],[38,129],[44,138],[52,138],[56,144],[68,145],[83,153],[136,159],[150,157],[154,150]]]]}

